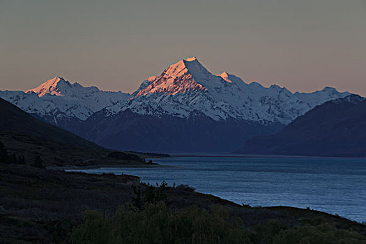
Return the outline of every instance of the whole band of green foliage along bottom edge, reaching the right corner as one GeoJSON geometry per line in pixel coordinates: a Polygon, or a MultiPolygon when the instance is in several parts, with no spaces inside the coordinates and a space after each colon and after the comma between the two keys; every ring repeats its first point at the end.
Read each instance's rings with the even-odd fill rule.
{"type": "Polygon", "coordinates": [[[74,227],[72,243],[259,243],[348,244],[366,243],[366,236],[352,229],[339,229],[325,218],[305,218],[296,225],[270,220],[245,229],[219,204],[210,210],[191,206],[170,208],[163,201],[144,208],[120,207],[112,218],[86,211],[74,227]]]}

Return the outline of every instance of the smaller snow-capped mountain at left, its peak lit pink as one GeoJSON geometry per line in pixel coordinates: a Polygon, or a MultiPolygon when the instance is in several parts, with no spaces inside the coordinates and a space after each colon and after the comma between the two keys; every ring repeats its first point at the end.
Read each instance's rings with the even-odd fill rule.
{"type": "Polygon", "coordinates": [[[127,100],[130,94],[100,91],[96,86],[71,84],[61,77],[47,80],[29,91],[0,91],[0,97],[25,112],[38,116],[61,128],[72,129],[98,110],[127,100]]]}

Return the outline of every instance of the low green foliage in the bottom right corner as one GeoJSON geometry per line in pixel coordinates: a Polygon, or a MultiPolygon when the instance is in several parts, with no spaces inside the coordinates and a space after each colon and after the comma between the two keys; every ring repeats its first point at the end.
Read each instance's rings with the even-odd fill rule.
{"type": "Polygon", "coordinates": [[[323,223],[318,225],[305,224],[301,227],[280,231],[273,244],[352,244],[366,243],[366,236],[353,230],[337,229],[334,224],[323,223]]]}

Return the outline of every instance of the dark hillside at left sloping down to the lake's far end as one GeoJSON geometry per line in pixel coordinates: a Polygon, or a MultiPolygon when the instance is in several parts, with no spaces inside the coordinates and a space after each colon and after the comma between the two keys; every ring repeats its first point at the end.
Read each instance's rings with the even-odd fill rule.
{"type": "Polygon", "coordinates": [[[1,98],[0,117],[0,142],[8,151],[6,161],[9,162],[22,161],[31,165],[35,158],[39,158],[38,161],[42,161],[45,167],[146,167],[144,158],[159,156],[114,152],[102,148],[71,132],[40,121],[1,98]]]}

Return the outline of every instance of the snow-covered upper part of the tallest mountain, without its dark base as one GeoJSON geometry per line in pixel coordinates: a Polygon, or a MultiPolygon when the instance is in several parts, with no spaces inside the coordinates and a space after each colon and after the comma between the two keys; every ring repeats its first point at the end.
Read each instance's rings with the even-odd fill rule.
{"type": "Polygon", "coordinates": [[[106,110],[108,116],[130,109],[137,114],[181,118],[198,111],[215,121],[232,118],[286,125],[323,102],[348,95],[330,87],[314,93],[291,93],[277,85],[247,84],[226,72],[213,75],[192,57],[146,79],[132,99],[106,110]]]}

